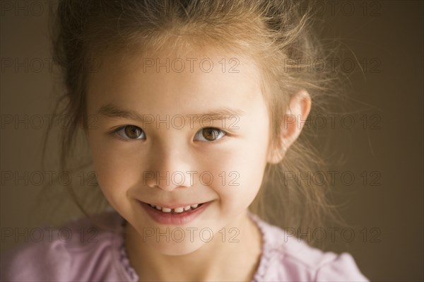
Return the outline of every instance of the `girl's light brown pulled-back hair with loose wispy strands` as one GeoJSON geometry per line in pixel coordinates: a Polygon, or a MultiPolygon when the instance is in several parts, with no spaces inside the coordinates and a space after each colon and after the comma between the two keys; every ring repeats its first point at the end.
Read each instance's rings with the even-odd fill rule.
{"type": "MultiPolygon", "coordinates": [[[[285,0],[63,0],[52,25],[53,57],[61,69],[64,93],[58,100],[71,122],[62,132],[59,168],[70,170],[77,134],[87,128],[86,89],[93,58],[106,54],[148,52],[163,47],[213,46],[252,58],[271,117],[270,146],[281,145],[281,122],[290,98],[307,90],[311,114],[326,110],[337,78],[310,61],[329,54],[317,39],[316,21],[307,1],[285,0]],[[296,64],[288,64],[295,61],[296,64]]],[[[305,128],[283,160],[268,164],[257,198],[249,210],[283,228],[322,227],[338,219],[329,204],[329,186],[305,183],[300,175],[326,163],[314,146],[316,133],[305,128]],[[310,131],[310,132],[308,132],[310,131]],[[295,172],[294,180],[287,172],[295,172]]],[[[46,141],[49,132],[47,131],[46,141]]],[[[45,153],[45,148],[43,149],[45,153]]],[[[43,153],[43,155],[44,155],[43,153]]],[[[85,166],[89,164],[83,164],[85,166]]],[[[72,187],[69,192],[76,199],[72,187]]],[[[76,201],[78,204],[78,200],[76,201]]],[[[84,211],[82,204],[78,204],[84,211]]],[[[297,234],[296,234],[297,235],[297,234]]]]}

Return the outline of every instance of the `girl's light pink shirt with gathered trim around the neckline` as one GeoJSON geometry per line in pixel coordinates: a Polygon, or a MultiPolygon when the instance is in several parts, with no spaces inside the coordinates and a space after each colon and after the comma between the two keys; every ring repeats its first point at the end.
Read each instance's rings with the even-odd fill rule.
{"type": "MultiPolygon", "coordinates": [[[[253,281],[368,281],[350,254],[314,249],[258,216],[250,216],[263,235],[253,281]]],[[[84,218],[45,233],[42,242],[30,242],[2,255],[1,281],[138,281],[124,249],[124,219],[107,212],[100,220],[111,230],[100,230],[84,218]]]]}

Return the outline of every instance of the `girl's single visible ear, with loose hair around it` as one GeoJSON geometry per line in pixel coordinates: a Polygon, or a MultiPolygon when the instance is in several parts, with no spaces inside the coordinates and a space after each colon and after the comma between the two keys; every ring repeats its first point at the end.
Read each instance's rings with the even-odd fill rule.
{"type": "Polygon", "coordinates": [[[271,148],[268,157],[269,163],[276,164],[283,160],[285,152],[298,139],[310,110],[311,98],[306,90],[300,90],[293,95],[281,122],[281,146],[271,148]]]}

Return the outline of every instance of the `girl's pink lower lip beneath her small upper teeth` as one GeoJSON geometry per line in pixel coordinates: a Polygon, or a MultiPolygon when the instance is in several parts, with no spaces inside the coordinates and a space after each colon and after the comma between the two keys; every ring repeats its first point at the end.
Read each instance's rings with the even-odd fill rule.
{"type": "Polygon", "coordinates": [[[211,204],[211,202],[208,201],[192,211],[185,211],[182,213],[164,213],[163,211],[158,211],[156,208],[152,208],[149,204],[142,201],[139,201],[139,203],[154,221],[160,224],[172,225],[184,225],[194,221],[194,219],[199,216],[209,206],[209,204],[211,204]]]}

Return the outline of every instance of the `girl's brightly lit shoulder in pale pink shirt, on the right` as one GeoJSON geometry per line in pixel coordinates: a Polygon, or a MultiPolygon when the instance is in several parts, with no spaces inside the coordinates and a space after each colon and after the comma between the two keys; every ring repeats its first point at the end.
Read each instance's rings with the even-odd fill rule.
{"type": "Polygon", "coordinates": [[[368,281],[351,254],[322,252],[255,215],[263,252],[255,281],[368,281]]]}

